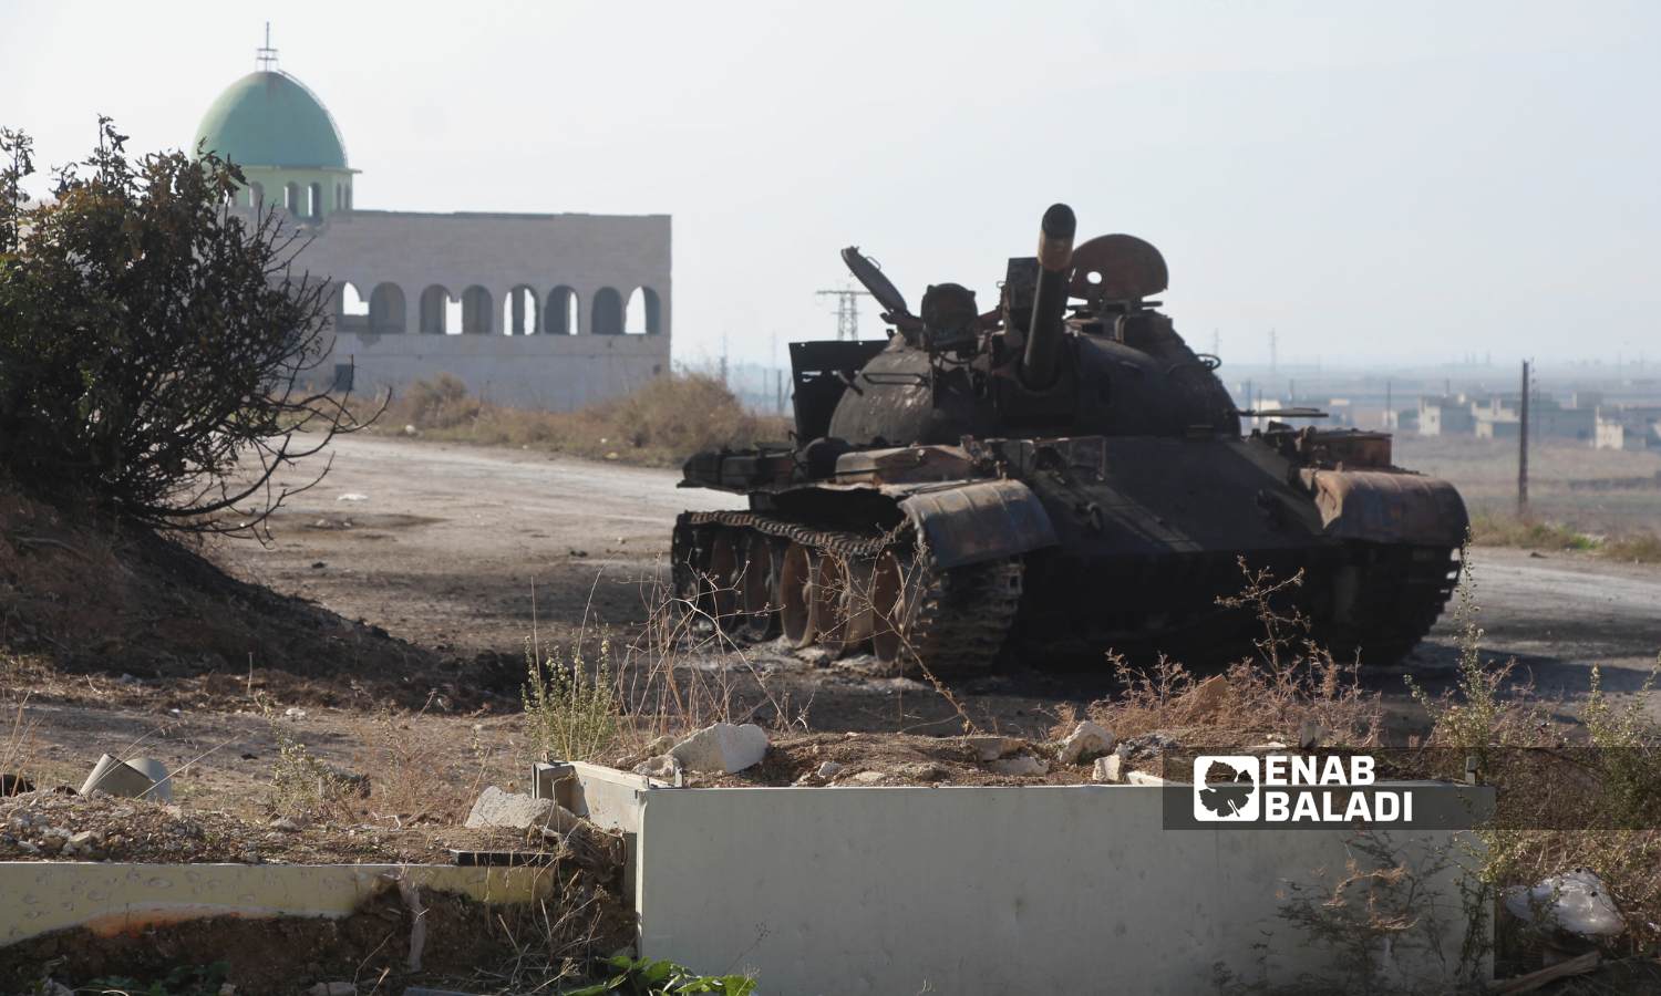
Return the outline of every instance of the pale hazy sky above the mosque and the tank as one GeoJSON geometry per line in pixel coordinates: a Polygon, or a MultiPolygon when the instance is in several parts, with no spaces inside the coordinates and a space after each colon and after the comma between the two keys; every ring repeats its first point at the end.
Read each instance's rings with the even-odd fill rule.
{"type": "Polygon", "coordinates": [[[995,300],[1051,201],[1224,360],[1661,357],[1661,3],[0,0],[0,123],[188,144],[267,18],[359,208],[673,214],[683,360],[830,335],[852,242],[995,300]]]}

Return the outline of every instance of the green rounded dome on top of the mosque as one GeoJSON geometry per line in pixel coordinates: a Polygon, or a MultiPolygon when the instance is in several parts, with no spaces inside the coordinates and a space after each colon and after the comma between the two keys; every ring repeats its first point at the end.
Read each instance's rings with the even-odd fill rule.
{"type": "Polygon", "coordinates": [[[238,166],[347,168],[327,108],[299,80],[274,70],[229,85],[203,115],[196,144],[238,166]]]}

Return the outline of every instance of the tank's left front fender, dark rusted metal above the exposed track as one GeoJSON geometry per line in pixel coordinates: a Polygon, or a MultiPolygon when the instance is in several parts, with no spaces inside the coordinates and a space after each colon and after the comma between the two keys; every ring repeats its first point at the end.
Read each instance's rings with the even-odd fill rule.
{"type": "Polygon", "coordinates": [[[973,481],[900,501],[940,568],[977,564],[1055,546],[1055,526],[1022,481],[973,481]]]}

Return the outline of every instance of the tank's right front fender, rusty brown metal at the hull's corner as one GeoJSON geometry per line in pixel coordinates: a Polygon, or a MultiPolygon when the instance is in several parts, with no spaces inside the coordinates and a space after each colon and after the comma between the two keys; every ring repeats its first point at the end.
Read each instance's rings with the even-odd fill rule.
{"type": "Polygon", "coordinates": [[[1417,473],[1306,470],[1329,536],[1460,546],[1470,518],[1453,485],[1417,473]]]}

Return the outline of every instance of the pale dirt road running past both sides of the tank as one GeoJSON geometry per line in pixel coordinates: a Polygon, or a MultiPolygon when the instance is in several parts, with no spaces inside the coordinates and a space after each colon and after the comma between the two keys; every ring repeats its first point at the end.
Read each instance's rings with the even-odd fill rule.
{"type": "MultiPolygon", "coordinates": [[[[653,603],[674,515],[741,506],[714,491],[681,490],[678,475],[546,453],[344,438],[322,485],[294,498],[272,523],[267,548],[234,544],[221,556],[281,591],[304,594],[395,636],[458,654],[517,654],[533,624],[543,639],[580,626],[636,626],[653,603]]],[[[1585,692],[1588,667],[1613,691],[1641,686],[1661,649],[1661,569],[1583,554],[1475,551],[1483,646],[1515,656],[1546,694],[1585,692]]],[[[1445,618],[1409,666],[1447,669],[1457,627],[1445,618]]],[[[772,666],[792,671],[782,661],[772,666]]],[[[912,682],[826,689],[837,672],[797,689],[822,710],[840,694],[885,702],[912,682]]],[[[1375,677],[1400,691],[1397,674],[1375,677]]],[[[849,684],[849,682],[842,682],[849,684]]],[[[983,706],[1017,720],[1056,697],[1100,691],[1090,676],[988,679],[983,706]],[[1008,701],[998,701],[1008,692],[1008,701]]],[[[922,691],[922,686],[917,686],[922,691]]],[[[922,696],[917,696],[922,699],[922,696]]],[[[927,722],[933,714],[907,719],[927,722]]],[[[854,727],[854,715],[842,717],[854,727]]],[[[1018,722],[1018,720],[1017,720],[1018,722]]]]}

